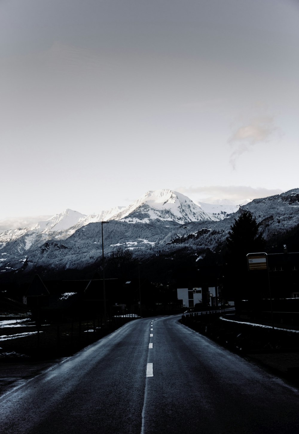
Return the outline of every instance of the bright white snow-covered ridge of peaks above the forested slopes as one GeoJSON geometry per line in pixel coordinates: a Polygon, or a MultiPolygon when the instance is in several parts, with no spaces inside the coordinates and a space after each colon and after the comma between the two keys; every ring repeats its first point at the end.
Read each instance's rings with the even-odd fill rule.
{"type": "Polygon", "coordinates": [[[30,247],[40,246],[46,240],[66,240],[79,228],[89,223],[121,220],[130,223],[148,223],[149,220],[167,220],[176,223],[219,220],[206,213],[187,196],[171,190],[148,191],[128,207],[114,207],[97,215],[85,215],[66,209],[49,220],[39,221],[29,228],[18,228],[0,233],[0,249],[14,241],[13,250],[23,254],[30,247]]]}

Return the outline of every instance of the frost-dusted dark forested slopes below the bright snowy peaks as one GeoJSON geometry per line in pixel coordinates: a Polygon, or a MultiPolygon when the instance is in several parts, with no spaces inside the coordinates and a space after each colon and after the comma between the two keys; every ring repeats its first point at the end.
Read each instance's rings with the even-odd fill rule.
{"type": "MultiPolygon", "coordinates": [[[[103,224],[106,261],[109,262],[113,256],[115,259],[116,252],[119,255],[120,250],[129,250],[133,262],[157,264],[159,259],[167,258],[175,261],[176,269],[179,269],[179,258],[182,261],[185,256],[190,256],[194,266],[195,263],[199,266],[208,257],[208,252],[223,253],[231,226],[246,210],[256,219],[268,252],[282,251],[283,244],[287,244],[289,251],[299,250],[299,189],[294,189],[280,195],[255,199],[240,207],[230,218],[220,221],[179,224],[158,218],[150,219],[148,223],[110,220],[103,224]]],[[[90,223],[64,240],[55,237],[46,242],[40,234],[26,249],[30,234],[12,240],[0,249],[0,278],[9,280],[16,273],[21,278],[37,269],[52,274],[59,272],[60,275],[66,271],[69,274],[71,270],[101,270],[101,230],[101,223],[90,223]]],[[[119,256],[121,258],[123,255],[119,256]]],[[[157,267],[160,269],[160,265],[157,267]]]]}

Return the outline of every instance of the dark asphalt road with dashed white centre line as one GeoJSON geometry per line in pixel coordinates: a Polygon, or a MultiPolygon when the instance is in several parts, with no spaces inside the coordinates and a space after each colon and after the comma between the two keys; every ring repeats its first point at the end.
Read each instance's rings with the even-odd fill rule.
{"type": "Polygon", "coordinates": [[[178,319],[129,322],[9,391],[0,433],[299,432],[296,388],[178,319]]]}

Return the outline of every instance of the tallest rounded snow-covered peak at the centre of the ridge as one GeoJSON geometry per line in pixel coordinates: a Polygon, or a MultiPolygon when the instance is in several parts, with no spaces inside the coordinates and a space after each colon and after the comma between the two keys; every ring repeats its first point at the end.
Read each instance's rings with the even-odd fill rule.
{"type": "Polygon", "coordinates": [[[113,219],[128,223],[148,223],[152,219],[170,220],[176,223],[219,220],[218,217],[202,210],[184,194],[168,189],[147,191],[133,204],[124,207],[114,215],[113,219]]]}

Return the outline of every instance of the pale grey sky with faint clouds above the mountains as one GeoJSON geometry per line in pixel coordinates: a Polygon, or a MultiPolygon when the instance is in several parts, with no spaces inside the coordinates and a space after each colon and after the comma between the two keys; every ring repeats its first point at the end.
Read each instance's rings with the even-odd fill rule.
{"type": "Polygon", "coordinates": [[[296,0],[0,0],[1,206],[299,187],[296,0]]]}

